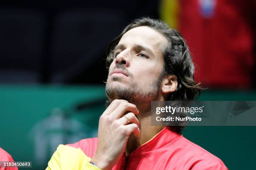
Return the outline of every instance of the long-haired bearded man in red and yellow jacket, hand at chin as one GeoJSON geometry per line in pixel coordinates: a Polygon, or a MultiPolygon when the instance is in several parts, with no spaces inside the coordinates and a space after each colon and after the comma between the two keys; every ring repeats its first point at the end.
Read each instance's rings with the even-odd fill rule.
{"type": "Polygon", "coordinates": [[[60,145],[47,170],[227,170],[184,138],[181,126],[151,126],[151,101],[194,100],[201,87],[182,36],[161,20],[133,21],[110,43],[98,138],[60,145]]]}

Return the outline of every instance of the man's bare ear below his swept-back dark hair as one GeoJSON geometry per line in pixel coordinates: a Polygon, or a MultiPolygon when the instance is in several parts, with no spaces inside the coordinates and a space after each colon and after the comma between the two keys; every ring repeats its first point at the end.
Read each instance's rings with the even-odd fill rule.
{"type": "Polygon", "coordinates": [[[162,81],[162,92],[174,92],[177,89],[178,81],[176,75],[166,75],[162,81]]]}

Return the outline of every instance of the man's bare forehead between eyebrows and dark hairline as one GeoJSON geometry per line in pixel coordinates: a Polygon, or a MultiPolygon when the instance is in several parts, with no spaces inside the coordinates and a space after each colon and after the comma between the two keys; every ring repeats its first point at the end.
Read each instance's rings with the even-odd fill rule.
{"type": "Polygon", "coordinates": [[[120,39],[118,44],[139,44],[146,45],[152,50],[162,50],[163,47],[168,43],[168,40],[164,35],[157,32],[153,28],[147,26],[141,26],[133,28],[127,31],[122,38],[120,39]]]}

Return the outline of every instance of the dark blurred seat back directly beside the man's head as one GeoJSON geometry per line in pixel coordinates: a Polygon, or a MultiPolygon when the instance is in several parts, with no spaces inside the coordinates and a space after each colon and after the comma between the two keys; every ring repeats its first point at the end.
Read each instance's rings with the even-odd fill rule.
{"type": "MultiPolygon", "coordinates": [[[[51,82],[70,82],[85,67],[102,60],[106,45],[122,31],[123,20],[120,11],[90,9],[59,13],[52,32],[51,82]]],[[[95,77],[101,77],[99,74],[102,73],[94,72],[95,77]]]]}

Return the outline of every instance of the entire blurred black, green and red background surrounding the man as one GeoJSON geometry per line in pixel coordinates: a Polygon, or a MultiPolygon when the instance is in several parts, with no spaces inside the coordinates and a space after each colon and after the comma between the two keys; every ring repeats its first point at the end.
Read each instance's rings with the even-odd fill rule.
{"type": "MultiPolygon", "coordinates": [[[[44,169],[59,144],[97,136],[106,47],[147,16],[187,40],[207,87],[200,100],[256,100],[255,0],[2,0],[0,147],[44,169]]],[[[256,169],[256,127],[187,127],[184,136],[230,170],[256,169]]]]}

